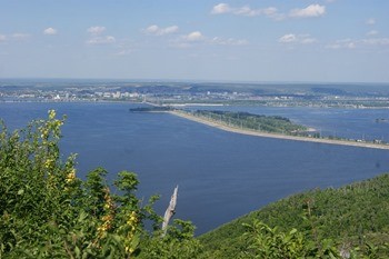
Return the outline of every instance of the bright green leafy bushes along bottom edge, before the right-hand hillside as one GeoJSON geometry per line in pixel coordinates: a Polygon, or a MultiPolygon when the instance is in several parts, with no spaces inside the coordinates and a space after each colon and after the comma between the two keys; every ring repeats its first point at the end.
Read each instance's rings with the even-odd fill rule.
{"type": "Polygon", "coordinates": [[[271,228],[268,225],[255,220],[252,225],[243,225],[247,231],[243,235],[247,250],[239,256],[241,258],[369,258],[379,259],[385,255],[389,256],[388,245],[375,246],[365,243],[363,246],[339,246],[332,239],[312,238],[308,231],[299,231],[296,228],[289,232],[282,232],[278,227],[271,228]]]}

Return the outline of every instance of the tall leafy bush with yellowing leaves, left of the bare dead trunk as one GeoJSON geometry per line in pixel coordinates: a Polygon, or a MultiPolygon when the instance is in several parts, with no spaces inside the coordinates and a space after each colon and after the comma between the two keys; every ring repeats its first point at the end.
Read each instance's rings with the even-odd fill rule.
{"type": "Polygon", "coordinates": [[[192,258],[193,226],[177,220],[161,238],[161,218],[134,192],[137,175],[122,171],[112,195],[107,171],[76,177],[74,156],[62,161],[63,119],[0,132],[0,258],[192,258]],[[149,223],[151,222],[151,223],[149,223]],[[144,225],[151,225],[147,231],[144,225]]]}

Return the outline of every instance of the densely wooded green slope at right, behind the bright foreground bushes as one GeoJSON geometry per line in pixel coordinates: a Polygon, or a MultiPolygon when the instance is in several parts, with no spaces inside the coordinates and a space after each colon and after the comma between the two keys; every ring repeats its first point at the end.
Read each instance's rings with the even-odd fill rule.
{"type": "Polygon", "coordinates": [[[206,255],[231,258],[246,249],[243,222],[260,219],[281,230],[303,230],[302,216],[312,209],[315,229],[320,238],[338,242],[389,241],[389,175],[339,189],[311,190],[271,203],[199,237],[206,255]]]}

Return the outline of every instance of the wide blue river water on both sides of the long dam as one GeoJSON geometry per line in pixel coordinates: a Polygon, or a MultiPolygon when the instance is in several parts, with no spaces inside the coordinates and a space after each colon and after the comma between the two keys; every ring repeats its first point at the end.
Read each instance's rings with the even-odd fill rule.
{"type": "MultiPolygon", "coordinates": [[[[14,129],[46,118],[49,109],[67,114],[61,150],[63,156],[78,153],[81,178],[99,166],[110,181],[121,170],[134,171],[139,197],[161,195],[156,205],[160,215],[179,185],[174,217],[193,221],[198,235],[299,191],[389,171],[389,150],[237,135],[169,113],[131,113],[133,106],[0,102],[0,118],[14,129]]],[[[217,109],[283,116],[323,135],[389,141],[385,109],[217,109]]]]}

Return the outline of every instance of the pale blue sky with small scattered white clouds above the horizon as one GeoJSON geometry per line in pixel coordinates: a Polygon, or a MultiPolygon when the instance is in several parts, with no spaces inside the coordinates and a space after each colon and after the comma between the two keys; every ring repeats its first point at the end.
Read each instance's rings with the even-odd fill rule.
{"type": "Polygon", "coordinates": [[[389,82],[388,0],[0,0],[0,78],[389,82]]]}

